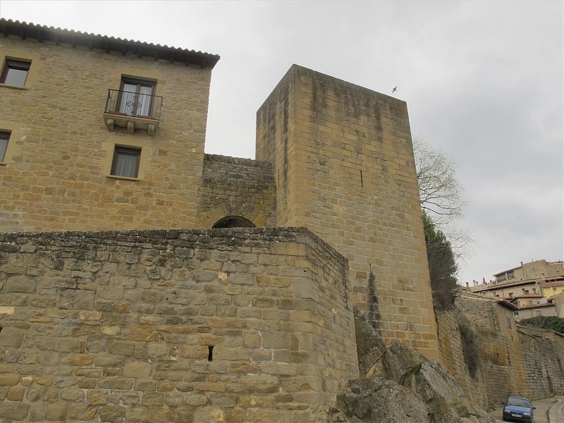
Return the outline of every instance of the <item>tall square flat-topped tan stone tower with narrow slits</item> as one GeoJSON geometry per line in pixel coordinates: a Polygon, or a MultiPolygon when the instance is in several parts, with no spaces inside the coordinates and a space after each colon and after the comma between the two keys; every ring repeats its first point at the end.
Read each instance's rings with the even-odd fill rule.
{"type": "Polygon", "coordinates": [[[405,102],[292,66],[257,112],[277,225],[305,226],[350,262],[350,295],[381,331],[438,358],[405,102]]]}

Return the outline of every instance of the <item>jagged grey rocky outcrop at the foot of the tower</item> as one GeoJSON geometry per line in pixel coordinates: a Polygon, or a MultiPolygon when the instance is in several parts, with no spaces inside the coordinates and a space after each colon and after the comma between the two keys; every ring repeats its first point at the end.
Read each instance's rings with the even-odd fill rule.
{"type": "Polygon", "coordinates": [[[437,362],[405,345],[388,348],[355,309],[361,378],[337,398],[332,422],[495,423],[437,362]]]}

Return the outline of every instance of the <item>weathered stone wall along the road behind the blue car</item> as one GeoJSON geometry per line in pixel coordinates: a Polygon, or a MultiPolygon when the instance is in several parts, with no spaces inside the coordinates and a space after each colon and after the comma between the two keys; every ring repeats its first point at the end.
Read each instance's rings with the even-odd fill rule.
{"type": "Polygon", "coordinates": [[[517,326],[513,312],[495,300],[462,296],[453,311],[436,311],[441,361],[480,407],[498,407],[510,395],[533,399],[564,394],[564,337],[517,326]],[[462,316],[461,316],[462,315],[462,316]],[[470,324],[477,355],[472,376],[465,364],[470,324]]]}

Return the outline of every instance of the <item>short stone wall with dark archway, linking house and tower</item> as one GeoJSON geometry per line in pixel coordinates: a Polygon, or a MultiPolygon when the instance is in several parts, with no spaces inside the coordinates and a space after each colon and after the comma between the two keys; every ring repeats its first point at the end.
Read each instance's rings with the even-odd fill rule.
{"type": "Polygon", "coordinates": [[[198,227],[212,228],[226,216],[255,226],[276,226],[276,181],[268,161],[204,155],[198,227]]]}

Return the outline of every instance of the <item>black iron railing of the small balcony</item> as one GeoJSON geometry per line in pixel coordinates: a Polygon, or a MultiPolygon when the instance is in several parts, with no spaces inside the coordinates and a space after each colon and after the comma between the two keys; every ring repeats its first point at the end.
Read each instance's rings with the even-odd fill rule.
{"type": "Polygon", "coordinates": [[[108,90],[106,113],[161,120],[163,97],[141,92],[108,90]]]}

